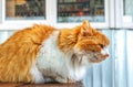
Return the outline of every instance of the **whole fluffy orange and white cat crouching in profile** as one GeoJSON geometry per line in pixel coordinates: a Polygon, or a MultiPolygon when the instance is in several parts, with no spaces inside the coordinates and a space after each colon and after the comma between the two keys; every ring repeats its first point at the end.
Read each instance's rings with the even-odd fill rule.
{"type": "Polygon", "coordinates": [[[109,39],[88,21],[73,29],[33,25],[0,45],[0,81],[74,83],[109,57],[109,39]]]}

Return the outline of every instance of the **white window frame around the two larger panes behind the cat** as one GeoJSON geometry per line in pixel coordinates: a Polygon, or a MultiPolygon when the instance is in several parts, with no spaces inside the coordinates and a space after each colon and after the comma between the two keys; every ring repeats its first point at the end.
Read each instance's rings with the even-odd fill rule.
{"type": "MultiPolygon", "coordinates": [[[[105,8],[105,22],[91,22],[91,24],[94,28],[98,29],[109,29],[109,28],[115,28],[115,7],[114,2],[115,0],[104,0],[104,8],[105,8]]],[[[117,1],[117,0],[116,0],[117,1]]],[[[1,18],[2,21],[0,21],[0,30],[20,30],[25,26],[31,26],[34,23],[38,24],[48,24],[51,26],[55,26],[58,29],[60,28],[73,28],[75,25],[81,24],[80,23],[58,23],[58,1],[57,0],[45,0],[45,20],[6,20],[6,0],[0,0],[2,2],[2,6],[0,8],[2,9],[1,18]]]]}

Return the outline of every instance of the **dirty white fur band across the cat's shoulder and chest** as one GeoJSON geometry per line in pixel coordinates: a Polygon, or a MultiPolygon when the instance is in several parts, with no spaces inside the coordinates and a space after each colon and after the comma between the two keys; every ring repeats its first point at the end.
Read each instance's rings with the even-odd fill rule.
{"type": "MultiPolygon", "coordinates": [[[[70,59],[73,53],[63,54],[58,47],[59,32],[54,32],[40,50],[37,57],[35,66],[31,68],[31,74],[34,77],[35,83],[42,83],[43,76],[60,75],[62,78],[70,78],[72,80],[81,79],[85,74],[84,67],[72,68],[70,59]],[[38,68],[38,69],[37,69],[38,68]],[[34,72],[35,70],[35,72],[34,72]]],[[[47,81],[43,78],[43,81],[47,81]]],[[[59,80],[60,83],[65,83],[59,80]]]]}

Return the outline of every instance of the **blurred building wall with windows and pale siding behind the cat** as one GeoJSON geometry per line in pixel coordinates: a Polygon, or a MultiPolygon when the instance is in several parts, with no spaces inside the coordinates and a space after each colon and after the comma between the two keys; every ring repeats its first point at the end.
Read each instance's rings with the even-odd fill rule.
{"type": "Polygon", "coordinates": [[[111,41],[110,58],[88,68],[85,87],[133,87],[133,0],[0,0],[0,43],[34,23],[58,29],[89,20],[111,41]]]}

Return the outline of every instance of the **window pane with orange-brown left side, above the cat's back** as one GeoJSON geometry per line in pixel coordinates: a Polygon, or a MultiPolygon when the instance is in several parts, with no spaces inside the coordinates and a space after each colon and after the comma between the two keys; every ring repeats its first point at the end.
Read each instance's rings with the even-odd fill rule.
{"type": "Polygon", "coordinates": [[[43,20],[45,0],[6,0],[7,20],[43,20]]]}

